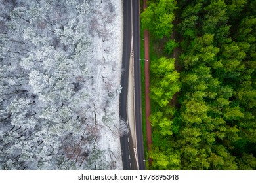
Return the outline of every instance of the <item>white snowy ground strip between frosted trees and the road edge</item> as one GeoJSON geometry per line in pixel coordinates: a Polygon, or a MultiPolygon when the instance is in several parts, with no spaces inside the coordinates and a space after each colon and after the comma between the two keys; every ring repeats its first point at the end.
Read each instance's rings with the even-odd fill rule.
{"type": "MultiPolygon", "coordinates": [[[[115,0],[102,1],[102,3],[98,0],[93,1],[93,4],[94,9],[98,10],[94,16],[101,23],[97,27],[98,32],[105,31],[102,33],[102,37],[98,36],[100,33],[91,33],[93,41],[90,45],[91,53],[89,54],[89,58],[98,60],[98,64],[95,65],[94,69],[95,75],[97,75],[95,84],[99,90],[96,90],[94,95],[97,95],[96,103],[100,107],[104,103],[104,95],[106,95],[106,93],[102,93],[104,91],[100,90],[100,88],[120,90],[123,48],[123,4],[122,1],[115,0]],[[114,14],[109,14],[108,10],[110,12],[113,11],[114,14]],[[104,21],[102,21],[104,18],[107,19],[106,22],[109,22],[106,24],[106,27],[104,27],[104,21]]],[[[114,124],[106,125],[110,125],[113,131],[119,126],[119,95],[114,97],[108,110],[114,124]]],[[[102,108],[99,108],[97,115],[98,118],[103,118],[104,111],[102,111],[102,108]]],[[[122,169],[119,136],[116,133],[113,134],[108,127],[102,128],[101,134],[102,138],[98,142],[98,146],[111,154],[111,156],[106,154],[106,160],[116,159],[116,169],[122,169]]]]}

